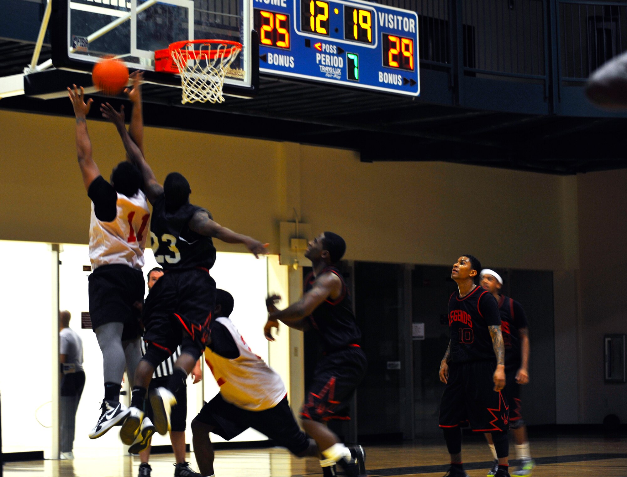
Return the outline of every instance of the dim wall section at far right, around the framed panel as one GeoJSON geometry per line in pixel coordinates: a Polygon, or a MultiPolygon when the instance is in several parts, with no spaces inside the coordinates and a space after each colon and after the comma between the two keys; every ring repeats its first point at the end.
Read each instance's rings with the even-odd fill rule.
{"type": "Polygon", "coordinates": [[[603,336],[627,333],[624,274],[627,171],[577,176],[579,195],[579,386],[582,423],[627,422],[627,384],[604,382],[603,336]]]}

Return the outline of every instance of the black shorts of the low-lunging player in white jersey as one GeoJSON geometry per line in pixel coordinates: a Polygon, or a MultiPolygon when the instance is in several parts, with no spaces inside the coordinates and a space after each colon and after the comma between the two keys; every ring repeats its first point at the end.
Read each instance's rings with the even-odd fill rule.
{"type": "Polygon", "coordinates": [[[213,426],[213,433],[230,441],[248,428],[265,434],[278,446],[288,448],[298,455],[309,447],[309,439],[298,428],[287,396],[275,407],[265,411],[248,411],[224,401],[218,392],[216,396],[203,406],[198,416],[201,423],[213,426]]]}

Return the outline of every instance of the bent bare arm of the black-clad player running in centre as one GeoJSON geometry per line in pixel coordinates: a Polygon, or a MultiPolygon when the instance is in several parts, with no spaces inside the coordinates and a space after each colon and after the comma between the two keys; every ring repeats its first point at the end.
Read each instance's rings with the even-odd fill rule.
{"type": "MultiPolygon", "coordinates": [[[[307,327],[306,318],[329,297],[337,297],[342,293],[342,280],[335,274],[324,274],[318,277],[311,290],[303,294],[296,303],[285,310],[278,310],[274,303],[281,297],[273,295],[266,300],[268,307],[268,323],[282,321],[287,326],[303,330],[307,327]]],[[[270,326],[271,327],[271,326],[270,326]]],[[[266,324],[265,335],[269,341],[274,341],[266,324]]]]}

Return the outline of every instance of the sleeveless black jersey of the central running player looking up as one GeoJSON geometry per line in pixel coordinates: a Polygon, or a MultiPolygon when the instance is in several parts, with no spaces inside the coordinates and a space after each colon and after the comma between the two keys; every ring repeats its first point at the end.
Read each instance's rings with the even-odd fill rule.
{"type": "MultiPolygon", "coordinates": [[[[352,302],[340,270],[327,267],[320,274],[335,274],[342,280],[342,293],[337,299],[325,300],[310,315],[312,327],[318,332],[325,352],[346,349],[361,341],[361,331],[357,327],[355,315],[352,312],[352,302]]],[[[305,279],[305,293],[314,287],[316,277],[311,273],[305,279]]]]}

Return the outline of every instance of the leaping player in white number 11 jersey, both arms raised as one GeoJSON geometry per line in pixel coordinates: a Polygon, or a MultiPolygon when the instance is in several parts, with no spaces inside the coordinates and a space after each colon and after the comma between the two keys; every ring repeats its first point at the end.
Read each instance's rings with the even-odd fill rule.
{"type": "MultiPolygon", "coordinates": [[[[143,125],[139,77],[129,98],[134,103],[130,135],[142,148],[143,125]]],[[[140,309],[144,299],[144,249],[149,234],[150,212],[141,187],[142,175],[124,161],[113,169],[110,183],[92,158],[87,133],[87,113],[93,100],[85,102],[83,88],[68,88],[76,115],[76,152],[87,195],[92,199],[89,258],[89,310],[92,329],[102,350],[105,392],[102,413],[90,431],[95,439],[118,424],[127,414],[120,403],[124,370],[130,384],[140,361],[140,309]]]]}

